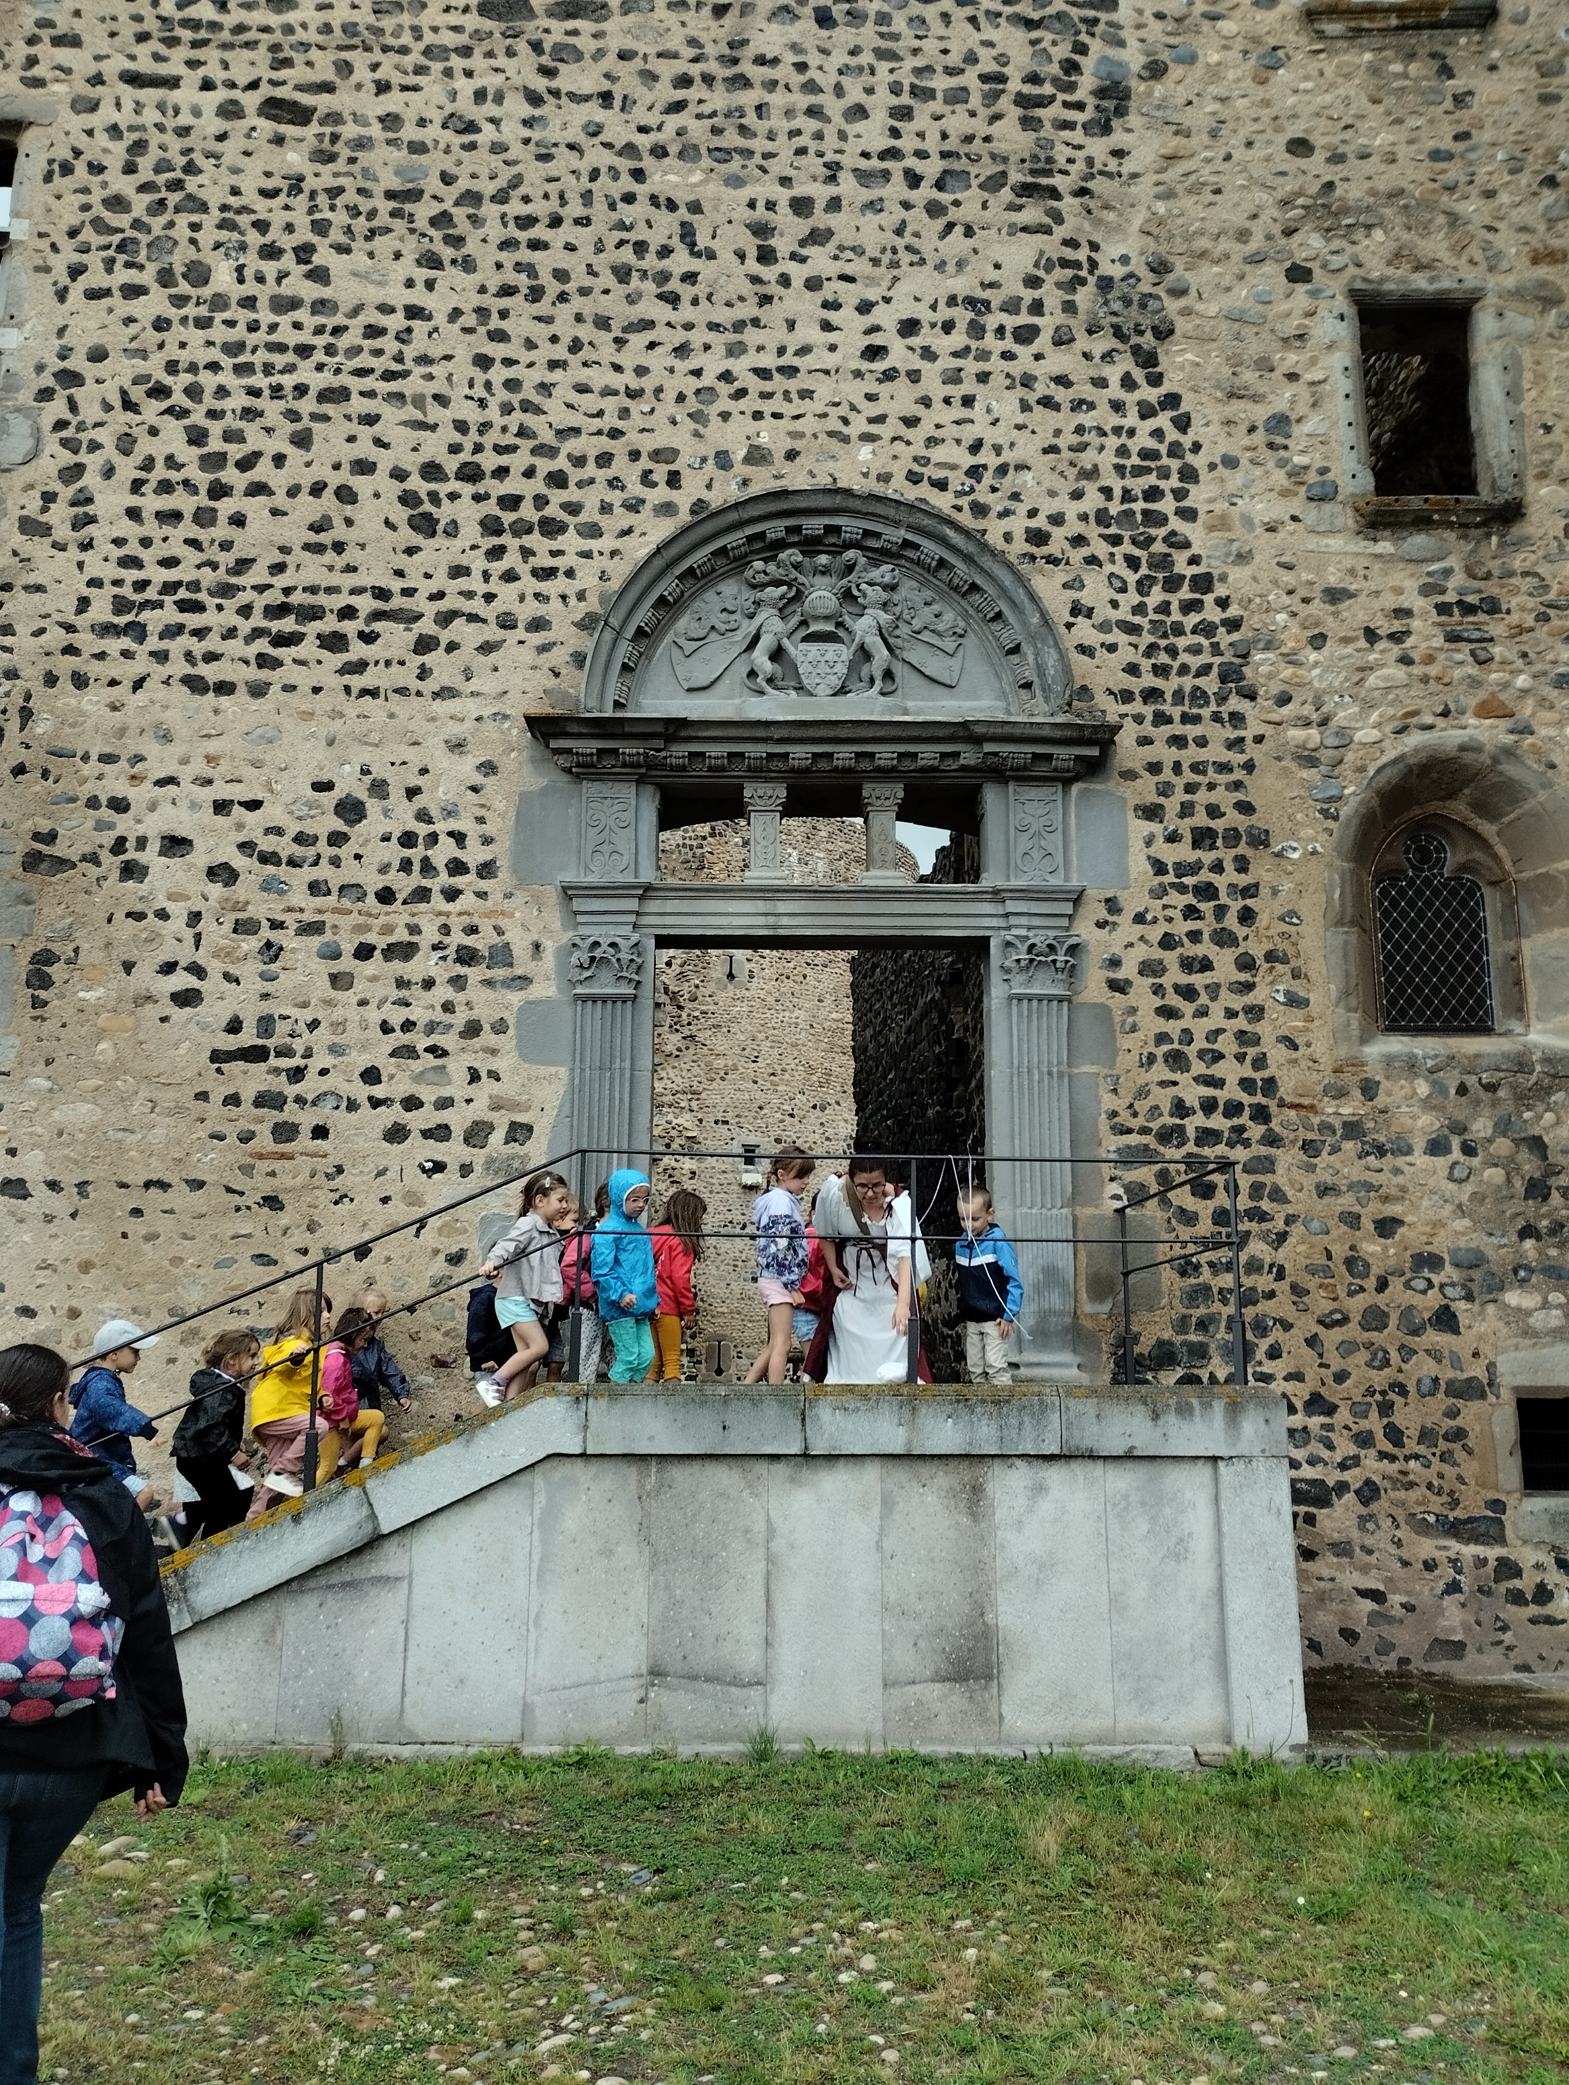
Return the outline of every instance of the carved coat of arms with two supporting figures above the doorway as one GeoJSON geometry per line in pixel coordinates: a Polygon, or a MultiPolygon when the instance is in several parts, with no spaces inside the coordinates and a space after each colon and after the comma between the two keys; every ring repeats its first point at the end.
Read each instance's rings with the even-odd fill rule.
{"type": "Polygon", "coordinates": [[[892,696],[906,678],[956,688],[967,626],[898,565],[865,550],[754,559],[681,617],[671,667],[688,692],[746,659],[748,694],[892,696]]]}

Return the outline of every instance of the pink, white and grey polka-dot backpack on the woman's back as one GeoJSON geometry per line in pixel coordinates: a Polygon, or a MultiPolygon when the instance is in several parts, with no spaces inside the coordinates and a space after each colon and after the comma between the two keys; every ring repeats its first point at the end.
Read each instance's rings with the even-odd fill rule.
{"type": "Polygon", "coordinates": [[[113,1701],[123,1635],[71,1507],[52,1491],[0,1485],[0,1720],[113,1701]]]}

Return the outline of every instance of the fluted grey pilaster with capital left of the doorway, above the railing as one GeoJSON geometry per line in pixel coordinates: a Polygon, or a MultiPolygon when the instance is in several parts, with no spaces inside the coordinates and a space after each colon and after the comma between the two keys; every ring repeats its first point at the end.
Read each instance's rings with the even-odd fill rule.
{"type": "Polygon", "coordinates": [[[590,1195],[615,1166],[648,1166],[638,1147],[648,1143],[640,1122],[646,1113],[640,1099],[640,1065],[646,1051],[638,1049],[640,988],[648,970],[648,949],[642,934],[602,930],[573,934],[573,1143],[586,1147],[586,1180],[590,1195]]]}

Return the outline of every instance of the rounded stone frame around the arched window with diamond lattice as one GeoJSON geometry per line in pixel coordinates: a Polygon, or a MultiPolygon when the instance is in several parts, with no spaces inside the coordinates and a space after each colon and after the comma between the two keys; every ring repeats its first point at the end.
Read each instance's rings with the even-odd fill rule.
{"type": "Polygon", "coordinates": [[[1569,1045],[1569,784],[1481,732],[1406,742],[1361,784],[1336,826],[1325,876],[1325,965],[1340,1059],[1417,1063],[1442,1049],[1467,1068],[1500,1053],[1569,1045]],[[1494,1030],[1392,1034],[1379,1026],[1373,872],[1417,824],[1465,836],[1469,874],[1488,867],[1494,1030]]]}

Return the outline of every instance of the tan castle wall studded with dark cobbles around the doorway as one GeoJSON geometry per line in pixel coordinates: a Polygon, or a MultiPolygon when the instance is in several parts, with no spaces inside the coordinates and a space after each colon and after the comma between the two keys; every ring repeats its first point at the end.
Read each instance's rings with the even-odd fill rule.
{"type": "MultiPolygon", "coordinates": [[[[1123,719],[1104,1124],[1246,1170],[1309,1658],[1561,1670],[1569,1551],[1492,1420],[1496,1357],[1565,1322],[1569,1055],[1336,1055],[1325,963],[1379,763],[1461,726],[1529,786],[1561,757],[1552,10],[13,23],[6,1328],[75,1349],[540,1151],[565,1074],[513,1034],[561,917],[510,867],[515,709],[573,698],[704,507],[886,486],[1027,567],[1123,719]],[[1452,269],[1519,357],[1523,513],[1361,534],[1342,288],[1452,269]]],[[[1217,1295],[1169,1301],[1150,1359],[1209,1374],[1217,1295]]],[[[148,1395],[188,1349],[150,1362],[148,1395]]]]}

